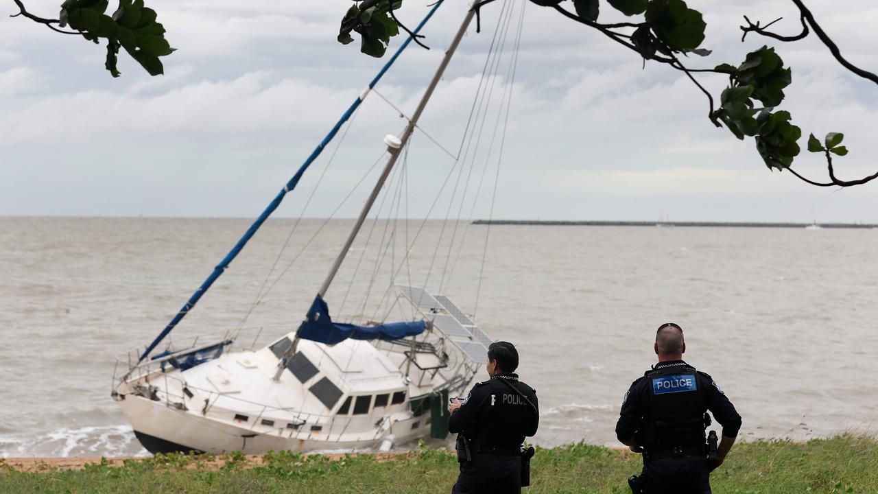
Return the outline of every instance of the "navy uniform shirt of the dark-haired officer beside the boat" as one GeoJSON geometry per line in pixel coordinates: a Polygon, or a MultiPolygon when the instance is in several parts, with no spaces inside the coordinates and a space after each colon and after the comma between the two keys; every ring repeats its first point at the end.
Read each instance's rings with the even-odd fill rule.
{"type": "Polygon", "coordinates": [[[539,425],[536,391],[519,381],[518,374],[495,374],[487,381],[478,382],[462,402],[448,419],[448,431],[463,432],[464,437],[475,444],[519,447],[525,437],[536,434],[539,425]]]}

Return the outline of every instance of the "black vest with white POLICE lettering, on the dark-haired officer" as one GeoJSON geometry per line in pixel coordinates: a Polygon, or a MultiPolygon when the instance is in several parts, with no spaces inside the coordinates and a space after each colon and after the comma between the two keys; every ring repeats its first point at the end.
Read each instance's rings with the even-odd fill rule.
{"type": "MultiPolygon", "coordinates": [[[[531,394],[526,384],[510,378],[506,378],[506,381],[524,395],[531,394]]],[[[486,403],[486,412],[476,418],[477,423],[468,431],[466,438],[479,445],[521,446],[526,432],[536,420],[536,410],[524,396],[510,389],[500,378],[489,379],[483,385],[491,387],[490,402],[486,403]]]]}

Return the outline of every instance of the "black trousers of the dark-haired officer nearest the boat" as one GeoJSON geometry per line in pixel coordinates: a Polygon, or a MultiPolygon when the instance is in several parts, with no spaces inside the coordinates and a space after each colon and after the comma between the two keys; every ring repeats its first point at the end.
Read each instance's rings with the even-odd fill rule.
{"type": "Polygon", "coordinates": [[[460,464],[460,476],[451,494],[520,494],[522,456],[473,454],[460,464]]]}

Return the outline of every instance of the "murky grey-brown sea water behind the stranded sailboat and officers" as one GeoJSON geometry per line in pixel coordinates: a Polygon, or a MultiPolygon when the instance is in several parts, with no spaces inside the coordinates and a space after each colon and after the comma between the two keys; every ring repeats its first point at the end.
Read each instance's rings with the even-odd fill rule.
{"type": "MultiPolygon", "coordinates": [[[[116,356],[154,338],[248,224],[0,218],[0,455],[146,454],[110,398],[116,356]]],[[[268,222],[175,337],[295,329],[350,224],[268,222]]],[[[336,318],[378,315],[392,278],[442,287],[518,345],[537,443],[615,444],[622,396],[668,321],[738,407],[743,438],[878,429],[876,230],[412,221],[361,238],[327,295],[336,318]]]]}

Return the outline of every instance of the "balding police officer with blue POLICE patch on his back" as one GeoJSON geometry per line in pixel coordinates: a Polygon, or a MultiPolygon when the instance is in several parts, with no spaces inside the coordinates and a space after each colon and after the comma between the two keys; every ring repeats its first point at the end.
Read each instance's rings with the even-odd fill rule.
{"type": "Polygon", "coordinates": [[[644,454],[636,492],[710,493],[710,471],[735,443],[741,416],[708,374],[683,361],[683,330],[665,323],[656,331],[659,363],[631,384],[622,402],[615,435],[644,454]],[[710,410],[723,425],[716,454],[708,457],[705,428],[710,410]]]}

